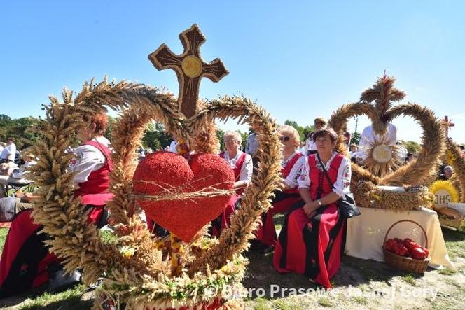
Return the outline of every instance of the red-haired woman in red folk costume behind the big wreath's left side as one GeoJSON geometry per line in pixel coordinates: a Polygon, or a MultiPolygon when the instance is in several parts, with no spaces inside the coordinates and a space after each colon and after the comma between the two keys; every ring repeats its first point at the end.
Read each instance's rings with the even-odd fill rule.
{"type": "MultiPolygon", "coordinates": [[[[89,210],[88,223],[103,225],[104,205],[113,196],[109,192],[109,174],[112,169],[109,141],[103,134],[108,120],[106,115],[93,115],[89,127],[78,130],[83,145],[76,149],[76,157],[69,169],[76,171],[74,197],[89,210]]],[[[80,274],[63,276],[59,260],[43,244],[46,234],[39,234],[40,225],[33,223],[32,209],[15,215],[6,236],[0,260],[0,296],[21,293],[49,281],[49,289],[77,283],[80,274]]],[[[100,226],[100,225],[99,225],[100,226]]]]}

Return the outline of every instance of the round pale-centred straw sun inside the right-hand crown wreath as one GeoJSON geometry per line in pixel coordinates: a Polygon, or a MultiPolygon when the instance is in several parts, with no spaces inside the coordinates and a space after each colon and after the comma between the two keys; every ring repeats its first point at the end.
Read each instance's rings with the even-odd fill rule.
{"type": "Polygon", "coordinates": [[[400,148],[398,146],[389,146],[387,138],[371,141],[366,147],[367,157],[362,164],[368,171],[375,176],[385,176],[395,171],[402,164],[400,148]]]}

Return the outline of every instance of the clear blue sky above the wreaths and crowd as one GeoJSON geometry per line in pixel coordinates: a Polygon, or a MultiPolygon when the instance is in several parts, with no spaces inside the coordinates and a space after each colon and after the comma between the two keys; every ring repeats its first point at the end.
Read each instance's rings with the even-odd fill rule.
{"type": "MultiPolygon", "coordinates": [[[[278,122],[309,125],[357,101],[385,69],[405,102],[449,115],[450,136],[463,143],[464,15],[459,0],[3,1],[1,113],[43,115],[49,94],[105,74],[177,94],[174,72],[157,71],[147,55],[161,43],[181,53],[179,33],[197,23],[203,59],[221,57],[230,71],[220,83],[204,79],[200,97],[243,93],[278,122]]],[[[422,134],[411,118],[394,124],[399,139],[422,134]]],[[[360,118],[358,131],[365,125],[360,118]]]]}

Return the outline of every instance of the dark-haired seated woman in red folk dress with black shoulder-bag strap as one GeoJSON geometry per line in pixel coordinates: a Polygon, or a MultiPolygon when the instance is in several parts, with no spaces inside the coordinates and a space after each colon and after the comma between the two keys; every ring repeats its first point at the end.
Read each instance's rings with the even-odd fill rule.
{"type": "Polygon", "coordinates": [[[305,274],[331,288],[330,279],[338,272],[345,248],[346,220],[336,202],[349,192],[350,160],[335,152],[338,136],[333,129],[319,129],[313,139],[317,153],[307,157],[298,178],[303,202],[294,204],[286,214],[273,265],[278,272],[305,274]]]}

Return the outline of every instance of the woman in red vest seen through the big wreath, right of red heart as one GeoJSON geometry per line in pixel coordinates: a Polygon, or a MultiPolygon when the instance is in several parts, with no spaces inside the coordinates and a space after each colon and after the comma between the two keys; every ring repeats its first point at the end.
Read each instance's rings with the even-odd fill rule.
{"type": "Polygon", "coordinates": [[[236,211],[237,201],[244,193],[244,189],[247,188],[247,185],[250,184],[252,179],[252,172],[254,170],[252,157],[240,150],[242,137],[238,132],[225,132],[223,140],[225,143],[226,151],[220,153],[220,157],[228,162],[234,171],[234,189],[236,194],[231,196],[223,213],[221,213],[221,215],[212,222],[211,234],[216,237],[219,236],[221,230],[223,230],[225,227],[228,227],[230,224],[230,217],[236,211]]]}

